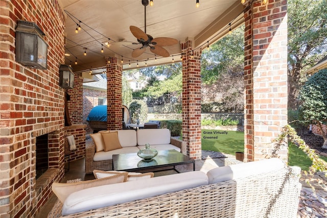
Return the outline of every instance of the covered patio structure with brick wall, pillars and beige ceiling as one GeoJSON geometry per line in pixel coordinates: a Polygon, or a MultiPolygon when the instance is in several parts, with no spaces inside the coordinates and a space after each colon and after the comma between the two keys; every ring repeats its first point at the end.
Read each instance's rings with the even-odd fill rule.
{"type": "MultiPolygon", "coordinates": [[[[107,126],[115,130],[122,128],[122,71],[137,64],[182,62],[183,140],[186,155],[200,159],[201,52],[242,23],[245,162],[269,157],[274,148],[271,140],[287,124],[287,1],[200,0],[198,8],[195,0],[154,0],[153,4],[143,6],[141,0],[1,2],[1,216],[28,217],[40,211],[51,195],[51,184],[64,176],[66,135],[77,136],[75,158],[83,157],[82,84],[92,80],[92,74],[107,74],[107,126]],[[44,33],[45,69],[16,61],[18,20],[34,22],[44,33]],[[146,27],[153,38],[170,37],[178,43],[163,46],[168,57],[149,50],[133,57],[140,44],[128,44],[137,42],[130,26],[142,31],[146,27]],[[73,89],[59,86],[61,64],[73,67],[73,89]],[[71,126],[65,126],[65,101],[71,126]],[[36,138],[44,134],[49,140],[49,169],[41,182],[35,177],[36,138]]],[[[287,145],[278,155],[287,161],[287,145]]]]}

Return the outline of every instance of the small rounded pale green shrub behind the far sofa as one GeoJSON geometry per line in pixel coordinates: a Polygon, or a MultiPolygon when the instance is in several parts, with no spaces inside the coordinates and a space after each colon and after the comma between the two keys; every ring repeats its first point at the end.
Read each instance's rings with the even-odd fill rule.
{"type": "Polygon", "coordinates": [[[129,113],[132,124],[135,124],[137,119],[139,119],[139,123],[143,124],[148,118],[148,106],[144,101],[134,100],[129,105],[129,113]]]}

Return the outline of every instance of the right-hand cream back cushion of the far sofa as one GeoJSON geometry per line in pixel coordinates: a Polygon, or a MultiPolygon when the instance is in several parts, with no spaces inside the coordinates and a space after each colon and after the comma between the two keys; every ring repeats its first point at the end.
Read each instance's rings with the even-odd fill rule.
{"type": "Polygon", "coordinates": [[[136,135],[138,146],[145,146],[146,143],[149,143],[150,146],[155,144],[170,144],[169,129],[138,129],[136,135]]]}

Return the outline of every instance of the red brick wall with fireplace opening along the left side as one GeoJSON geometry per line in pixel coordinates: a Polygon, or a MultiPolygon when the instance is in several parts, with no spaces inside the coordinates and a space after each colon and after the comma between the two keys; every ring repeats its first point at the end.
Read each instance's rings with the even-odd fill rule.
{"type": "Polygon", "coordinates": [[[52,182],[64,174],[64,89],[58,81],[65,17],[56,0],[0,0],[0,11],[0,216],[34,217],[51,194],[52,182]],[[18,19],[35,22],[45,33],[47,69],[15,61],[18,19]],[[46,133],[51,169],[40,184],[35,138],[46,133]]]}

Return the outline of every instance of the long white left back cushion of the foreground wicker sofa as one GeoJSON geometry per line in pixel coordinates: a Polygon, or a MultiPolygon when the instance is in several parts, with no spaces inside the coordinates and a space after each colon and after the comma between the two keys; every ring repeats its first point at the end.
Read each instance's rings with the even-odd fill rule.
{"type": "Polygon", "coordinates": [[[192,171],[76,191],[68,196],[62,215],[150,198],[186,188],[207,185],[205,173],[192,171]]]}

